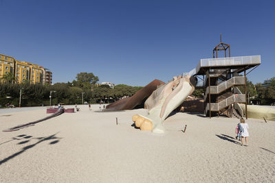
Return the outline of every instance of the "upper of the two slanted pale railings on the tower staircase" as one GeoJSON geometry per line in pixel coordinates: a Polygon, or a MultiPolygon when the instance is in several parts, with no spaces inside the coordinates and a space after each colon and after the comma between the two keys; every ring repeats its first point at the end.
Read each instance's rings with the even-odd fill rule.
{"type": "MultiPolygon", "coordinates": [[[[217,86],[210,86],[210,94],[221,93],[222,91],[224,91],[236,84],[245,84],[245,77],[243,77],[243,76],[232,77],[232,78],[230,78],[230,80],[221,82],[217,86]]],[[[203,97],[204,100],[206,100],[206,97],[208,94],[209,94],[209,86],[207,86],[207,88],[206,88],[206,94],[203,97]]]]}

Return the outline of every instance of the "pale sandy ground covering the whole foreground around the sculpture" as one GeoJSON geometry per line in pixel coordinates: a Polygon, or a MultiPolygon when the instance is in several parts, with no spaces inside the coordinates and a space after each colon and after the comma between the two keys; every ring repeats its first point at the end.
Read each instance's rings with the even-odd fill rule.
{"type": "MultiPolygon", "coordinates": [[[[92,107],[0,132],[0,182],[275,182],[274,121],[248,119],[249,146],[241,147],[238,119],[179,112],[166,119],[165,134],[153,134],[131,126],[144,109],[92,107]]],[[[0,130],[47,115],[1,113],[0,130]]]]}

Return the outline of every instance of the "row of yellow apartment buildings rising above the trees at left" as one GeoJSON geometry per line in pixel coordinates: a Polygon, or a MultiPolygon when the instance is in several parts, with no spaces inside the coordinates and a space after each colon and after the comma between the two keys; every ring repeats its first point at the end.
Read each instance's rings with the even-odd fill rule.
{"type": "Polygon", "coordinates": [[[52,72],[49,69],[0,54],[0,78],[7,73],[12,73],[17,83],[30,81],[32,84],[52,84],[52,72]]]}

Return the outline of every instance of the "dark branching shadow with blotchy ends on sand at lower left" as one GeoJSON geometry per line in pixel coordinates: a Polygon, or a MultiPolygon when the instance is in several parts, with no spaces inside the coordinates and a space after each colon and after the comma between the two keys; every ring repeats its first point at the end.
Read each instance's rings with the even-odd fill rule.
{"type": "MultiPolygon", "coordinates": [[[[56,134],[58,134],[58,133],[56,133],[56,134]]],[[[44,136],[44,137],[39,137],[39,138],[32,138],[32,139],[38,139],[39,141],[37,141],[36,143],[34,143],[34,144],[32,144],[32,145],[25,146],[25,147],[23,147],[23,148],[21,149],[21,151],[18,151],[17,153],[12,154],[12,155],[8,156],[7,158],[4,158],[3,160],[0,161],[0,165],[3,164],[3,163],[5,163],[5,162],[7,162],[8,160],[10,160],[10,159],[12,159],[12,158],[15,158],[15,157],[18,156],[19,154],[22,154],[23,152],[27,151],[28,149],[30,149],[30,148],[32,148],[32,147],[34,147],[34,146],[36,146],[36,145],[38,145],[39,143],[42,143],[42,142],[44,142],[44,141],[54,140],[54,141],[50,142],[50,145],[53,145],[53,144],[58,143],[59,140],[60,140],[61,138],[60,138],[60,137],[56,137],[56,134],[53,134],[53,135],[51,135],[51,136],[44,136]]],[[[25,136],[25,135],[23,135],[23,136],[21,136],[21,137],[23,137],[24,139],[26,139],[26,138],[28,139],[28,138],[31,138],[31,137],[32,137],[32,136],[25,136]],[[23,137],[23,136],[24,136],[24,137],[23,137]]],[[[22,140],[23,138],[17,139],[17,140],[22,140]]],[[[18,144],[18,145],[21,145],[21,144],[24,144],[24,143],[28,143],[28,142],[30,142],[30,140],[31,140],[31,139],[28,139],[27,141],[21,141],[21,142],[19,142],[19,143],[17,143],[17,144],[18,144]]],[[[11,141],[14,141],[14,138],[12,138],[11,141]]],[[[7,142],[9,142],[9,141],[7,141],[7,142]]]]}

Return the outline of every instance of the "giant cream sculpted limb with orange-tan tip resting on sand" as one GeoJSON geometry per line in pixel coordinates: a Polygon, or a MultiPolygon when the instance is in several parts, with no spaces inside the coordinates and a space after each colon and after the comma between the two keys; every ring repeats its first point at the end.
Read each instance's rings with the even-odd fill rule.
{"type": "Polygon", "coordinates": [[[163,122],[188,95],[195,90],[195,77],[173,77],[173,81],[159,86],[145,101],[146,116],[133,115],[132,120],[140,130],[164,133],[163,122]]]}

